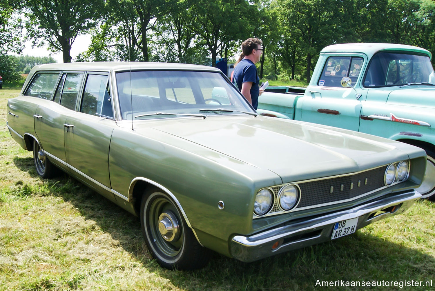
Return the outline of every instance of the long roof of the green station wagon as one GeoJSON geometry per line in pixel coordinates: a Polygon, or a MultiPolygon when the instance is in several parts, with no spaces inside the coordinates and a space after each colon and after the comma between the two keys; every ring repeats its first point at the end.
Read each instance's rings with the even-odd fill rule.
{"type": "Polygon", "coordinates": [[[77,62],[42,64],[33,67],[33,70],[221,70],[214,67],[192,64],[153,63],[153,62],[77,62]]]}

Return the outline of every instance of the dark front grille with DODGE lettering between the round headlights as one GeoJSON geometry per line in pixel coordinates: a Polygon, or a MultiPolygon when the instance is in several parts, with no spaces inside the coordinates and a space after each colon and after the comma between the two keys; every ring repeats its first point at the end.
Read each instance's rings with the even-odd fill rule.
{"type": "MultiPolygon", "coordinates": [[[[369,171],[341,177],[323,178],[298,184],[301,188],[301,201],[294,209],[313,205],[329,204],[351,200],[363,194],[385,187],[384,174],[387,169],[378,167],[369,171]]],[[[271,187],[275,195],[275,203],[270,214],[281,212],[278,208],[278,193],[283,185],[271,187]]]]}

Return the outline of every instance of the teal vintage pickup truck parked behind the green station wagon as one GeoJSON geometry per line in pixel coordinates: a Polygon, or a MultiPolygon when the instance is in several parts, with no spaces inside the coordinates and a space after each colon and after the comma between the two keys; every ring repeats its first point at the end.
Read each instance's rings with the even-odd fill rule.
{"type": "Polygon", "coordinates": [[[258,113],[341,127],[423,148],[417,189],[435,200],[435,73],[432,54],[391,43],[325,47],[307,88],[268,87],[258,113]],[[277,93],[281,92],[281,93],[277,93]]]}

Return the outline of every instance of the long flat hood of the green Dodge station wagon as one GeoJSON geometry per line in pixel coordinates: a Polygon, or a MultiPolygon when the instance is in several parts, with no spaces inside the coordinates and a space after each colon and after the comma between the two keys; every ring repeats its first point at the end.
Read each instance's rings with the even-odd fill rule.
{"type": "MultiPolygon", "coordinates": [[[[143,125],[272,171],[284,183],[351,173],[408,159],[394,145],[402,143],[301,121],[260,116],[159,121],[143,125]],[[381,142],[384,140],[389,143],[381,142]]],[[[170,143],[176,145],[177,138],[170,143]]]]}

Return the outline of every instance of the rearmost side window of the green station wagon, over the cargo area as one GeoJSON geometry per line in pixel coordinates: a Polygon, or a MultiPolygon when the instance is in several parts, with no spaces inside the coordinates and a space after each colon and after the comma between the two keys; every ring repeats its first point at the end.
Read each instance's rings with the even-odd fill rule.
{"type": "Polygon", "coordinates": [[[24,95],[51,100],[59,73],[37,74],[30,82],[24,95]]]}

